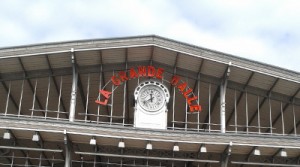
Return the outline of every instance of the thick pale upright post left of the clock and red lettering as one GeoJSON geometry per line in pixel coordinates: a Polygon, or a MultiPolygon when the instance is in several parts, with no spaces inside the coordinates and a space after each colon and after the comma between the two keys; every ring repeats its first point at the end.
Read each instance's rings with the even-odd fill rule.
{"type": "Polygon", "coordinates": [[[74,48],[71,48],[71,58],[72,58],[73,79],[72,79],[72,91],[71,91],[69,121],[74,122],[74,120],[75,120],[75,109],[76,109],[77,81],[78,81],[78,72],[77,72],[77,69],[76,69],[74,48]]]}

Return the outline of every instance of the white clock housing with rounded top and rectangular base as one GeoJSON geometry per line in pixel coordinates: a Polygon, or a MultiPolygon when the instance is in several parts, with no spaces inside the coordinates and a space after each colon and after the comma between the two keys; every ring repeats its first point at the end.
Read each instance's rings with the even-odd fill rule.
{"type": "Polygon", "coordinates": [[[158,81],[140,83],[134,91],[134,126],[148,129],[167,129],[170,93],[158,81]]]}

